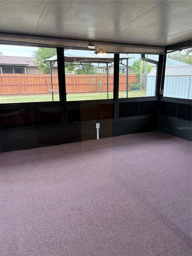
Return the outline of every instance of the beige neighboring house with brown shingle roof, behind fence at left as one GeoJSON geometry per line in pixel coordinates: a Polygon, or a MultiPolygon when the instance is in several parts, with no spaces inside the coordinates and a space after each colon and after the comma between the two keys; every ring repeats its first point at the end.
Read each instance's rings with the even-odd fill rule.
{"type": "MultiPolygon", "coordinates": [[[[43,74],[34,63],[34,57],[0,56],[0,73],[4,74],[43,74]]],[[[57,68],[52,69],[53,74],[57,68]]]]}

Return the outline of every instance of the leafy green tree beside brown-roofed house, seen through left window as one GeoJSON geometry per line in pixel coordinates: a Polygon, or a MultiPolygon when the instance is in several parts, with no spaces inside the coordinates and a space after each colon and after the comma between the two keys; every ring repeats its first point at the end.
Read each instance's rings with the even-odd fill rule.
{"type": "Polygon", "coordinates": [[[38,68],[43,71],[44,74],[50,74],[49,62],[44,60],[49,59],[57,54],[57,50],[54,48],[39,48],[36,51],[33,51],[32,56],[35,57],[35,65],[38,65],[38,68]]]}

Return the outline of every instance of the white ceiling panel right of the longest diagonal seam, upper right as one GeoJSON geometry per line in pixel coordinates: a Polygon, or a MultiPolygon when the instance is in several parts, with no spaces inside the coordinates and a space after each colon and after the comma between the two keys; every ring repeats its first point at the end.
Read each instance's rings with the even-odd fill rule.
{"type": "MultiPolygon", "coordinates": [[[[191,1],[169,1],[100,38],[99,41],[158,45],[158,41],[191,30],[191,1]]],[[[190,37],[188,38],[190,39],[190,37]]],[[[162,41],[163,42],[163,41],[162,41]]],[[[161,43],[162,43],[161,42],[161,43]]],[[[165,42],[165,41],[164,41],[165,42]]]]}

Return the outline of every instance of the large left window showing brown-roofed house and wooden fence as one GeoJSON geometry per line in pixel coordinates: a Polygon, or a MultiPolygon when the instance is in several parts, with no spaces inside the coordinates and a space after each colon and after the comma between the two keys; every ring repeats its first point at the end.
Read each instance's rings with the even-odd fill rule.
{"type": "Polygon", "coordinates": [[[59,101],[56,48],[1,45],[0,104],[59,101]],[[50,69],[51,67],[51,69],[50,69]]]}

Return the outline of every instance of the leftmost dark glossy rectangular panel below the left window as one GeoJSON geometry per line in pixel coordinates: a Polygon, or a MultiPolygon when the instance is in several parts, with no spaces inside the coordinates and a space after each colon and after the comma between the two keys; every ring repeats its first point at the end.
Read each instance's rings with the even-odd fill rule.
{"type": "Polygon", "coordinates": [[[28,109],[0,110],[0,128],[10,129],[32,126],[32,112],[28,109]]]}

